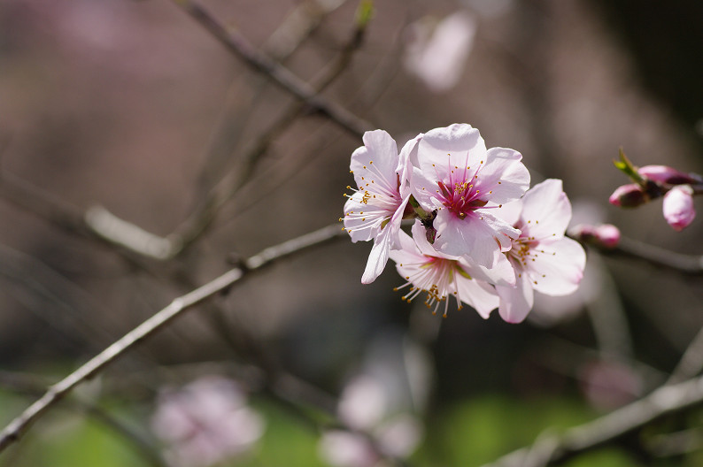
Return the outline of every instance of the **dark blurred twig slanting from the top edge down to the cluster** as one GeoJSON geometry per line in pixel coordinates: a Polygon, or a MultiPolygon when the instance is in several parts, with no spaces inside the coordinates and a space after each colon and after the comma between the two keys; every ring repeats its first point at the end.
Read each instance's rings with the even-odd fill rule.
{"type": "Polygon", "coordinates": [[[365,131],[372,129],[372,126],[365,120],[360,119],[344,107],[332,103],[315,92],[304,80],[274,60],[256,50],[249,41],[235,30],[225,27],[218,19],[215,19],[205,8],[194,0],[174,0],[174,4],[179,5],[183,11],[187,12],[191,18],[212,34],[230,52],[241,58],[243,62],[259,73],[267,74],[271,80],[279,87],[288,91],[297,99],[303,101],[305,105],[321,113],[338,126],[344,128],[350,134],[360,138],[365,131]]]}

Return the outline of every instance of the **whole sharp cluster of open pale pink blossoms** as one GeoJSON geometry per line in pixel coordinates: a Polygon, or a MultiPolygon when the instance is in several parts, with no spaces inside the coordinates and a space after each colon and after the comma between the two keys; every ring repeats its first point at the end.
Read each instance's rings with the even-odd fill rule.
{"type": "Polygon", "coordinates": [[[486,149],[467,124],[435,128],[398,152],[390,134],[364,134],[352,154],[357,189],[344,204],[352,241],[373,241],[361,281],[373,282],[388,259],[406,283],[403,299],[426,294],[436,313],[473,307],[483,318],[498,309],[520,322],[534,291],[568,295],[583,277],[583,247],[565,236],[571,204],[561,180],[529,188],[514,149],[486,149]],[[411,235],[403,219],[414,219],[411,235]]]}

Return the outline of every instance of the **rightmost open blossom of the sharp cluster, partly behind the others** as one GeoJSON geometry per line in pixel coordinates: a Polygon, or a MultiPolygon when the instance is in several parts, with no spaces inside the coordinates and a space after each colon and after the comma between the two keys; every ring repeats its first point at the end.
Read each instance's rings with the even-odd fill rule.
{"type": "Polygon", "coordinates": [[[576,290],[586,255],[577,241],[564,236],[571,204],[561,180],[539,183],[504,210],[506,219],[515,218],[514,226],[521,234],[506,253],[517,275],[515,287],[496,287],[498,312],[507,322],[519,323],[532,309],[535,290],[545,295],[568,295],[576,290]]]}

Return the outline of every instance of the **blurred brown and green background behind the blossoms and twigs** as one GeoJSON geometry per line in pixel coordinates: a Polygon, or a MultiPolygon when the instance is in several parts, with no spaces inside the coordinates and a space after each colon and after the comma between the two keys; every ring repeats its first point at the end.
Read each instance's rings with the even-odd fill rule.
{"type": "MultiPolygon", "coordinates": [[[[344,54],[358,6],[205,3],[311,82],[344,54]]],[[[703,172],[703,3],[388,0],[374,8],[323,96],[399,144],[470,123],[489,147],[521,151],[533,184],[564,180],[577,220],[703,253],[703,223],[675,233],[661,200],[632,211],[607,203],[627,182],[612,164],[621,147],[636,165],[703,172]],[[448,40],[423,42],[438,41],[448,18],[456,23],[448,40]]],[[[336,222],[361,142],[320,115],[284,120],[212,226],[168,261],[133,260],[80,228],[47,222],[50,213],[27,209],[5,180],[68,211],[102,206],[164,236],[222,177],[243,170],[243,157],[294,104],[171,2],[0,3],[0,420],[236,258],[336,222]]],[[[335,410],[359,374],[375,375],[392,388],[384,407],[414,417],[409,464],[481,465],[647,394],[703,325],[700,279],[596,250],[580,291],[539,300],[521,325],[467,308],[433,317],[421,302],[400,301],[390,265],[361,285],[369,249],[327,244],[191,311],[52,410],[0,464],[158,464],[158,394],[211,374],[235,379],[266,420],[260,439],[222,465],[339,464],[317,430],[268,394],[273,372],[328,396],[294,401],[313,414],[335,410]]],[[[360,400],[373,405],[373,395],[360,400]]],[[[699,465],[702,421],[694,409],[568,465],[699,465]],[[695,442],[667,450],[666,433],[684,429],[695,442]]]]}

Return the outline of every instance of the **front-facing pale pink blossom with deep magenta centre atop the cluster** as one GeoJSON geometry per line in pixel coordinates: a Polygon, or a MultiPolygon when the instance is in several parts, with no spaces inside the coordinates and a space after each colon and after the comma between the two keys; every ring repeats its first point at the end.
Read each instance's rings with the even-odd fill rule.
{"type": "Polygon", "coordinates": [[[521,154],[486,149],[478,130],[467,124],[430,130],[416,138],[409,153],[413,196],[424,210],[436,211],[434,249],[491,268],[496,253],[510,249],[520,234],[491,210],[529,188],[521,154]]]}

